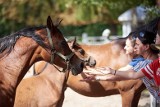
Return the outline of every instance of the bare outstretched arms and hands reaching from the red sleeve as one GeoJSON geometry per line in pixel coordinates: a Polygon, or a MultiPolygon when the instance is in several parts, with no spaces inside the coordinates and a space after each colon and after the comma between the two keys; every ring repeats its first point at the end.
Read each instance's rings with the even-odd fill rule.
{"type": "Polygon", "coordinates": [[[97,74],[89,73],[87,78],[85,78],[85,81],[94,81],[94,80],[101,80],[101,81],[120,81],[120,80],[129,80],[129,79],[138,79],[144,77],[144,74],[142,71],[135,72],[133,69],[129,69],[127,71],[119,71],[117,70],[115,73],[115,70],[111,68],[103,68],[97,69],[97,74]],[[103,74],[103,75],[102,75],[103,74]],[[111,75],[112,74],[112,75],[111,75]],[[115,74],[115,75],[113,75],[115,74]]]}

